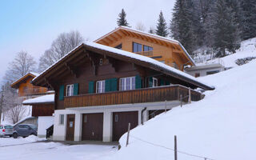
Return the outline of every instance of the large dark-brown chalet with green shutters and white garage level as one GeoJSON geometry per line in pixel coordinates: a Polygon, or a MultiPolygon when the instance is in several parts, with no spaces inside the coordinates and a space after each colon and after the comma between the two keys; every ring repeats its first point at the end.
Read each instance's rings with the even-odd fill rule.
{"type": "Polygon", "coordinates": [[[32,83],[55,90],[53,139],[60,141],[118,141],[128,123],[134,128],[180,105],[181,98],[187,102],[189,93],[193,101],[200,100],[202,94],[193,90],[198,87],[214,90],[162,62],[94,42],[77,46],[32,83]]]}

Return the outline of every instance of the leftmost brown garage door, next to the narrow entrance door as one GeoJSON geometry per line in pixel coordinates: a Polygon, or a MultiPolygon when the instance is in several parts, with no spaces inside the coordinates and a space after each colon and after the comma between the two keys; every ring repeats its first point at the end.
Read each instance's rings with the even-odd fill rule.
{"type": "Polygon", "coordinates": [[[82,114],[82,140],[102,141],[103,114],[82,114]]]}

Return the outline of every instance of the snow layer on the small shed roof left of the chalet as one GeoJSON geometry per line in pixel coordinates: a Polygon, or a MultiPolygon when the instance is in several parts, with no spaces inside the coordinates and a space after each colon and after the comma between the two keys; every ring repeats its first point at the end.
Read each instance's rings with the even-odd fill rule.
{"type": "Polygon", "coordinates": [[[23,105],[38,104],[38,103],[52,103],[54,102],[54,94],[47,94],[38,98],[30,98],[22,102],[23,105]]]}

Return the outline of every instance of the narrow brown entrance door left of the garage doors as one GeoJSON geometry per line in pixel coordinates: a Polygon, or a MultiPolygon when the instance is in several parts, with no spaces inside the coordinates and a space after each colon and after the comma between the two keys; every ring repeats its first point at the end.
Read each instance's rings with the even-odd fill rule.
{"type": "Polygon", "coordinates": [[[74,141],[74,114],[66,116],[66,141],[74,141]]]}

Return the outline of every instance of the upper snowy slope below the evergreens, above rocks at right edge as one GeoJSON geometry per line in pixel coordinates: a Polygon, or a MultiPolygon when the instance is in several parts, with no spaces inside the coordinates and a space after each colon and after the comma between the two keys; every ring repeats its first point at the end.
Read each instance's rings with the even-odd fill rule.
{"type": "MultiPolygon", "coordinates": [[[[198,52],[202,52],[198,51],[198,52]]],[[[238,66],[235,61],[238,58],[248,58],[248,57],[256,57],[256,38],[251,38],[246,41],[241,42],[241,47],[236,50],[235,54],[230,54],[223,58],[215,58],[209,61],[206,61],[206,59],[210,59],[209,54],[199,54],[195,60],[199,63],[197,63],[198,66],[209,64],[209,63],[222,63],[225,67],[234,67],[238,66]]]]}

